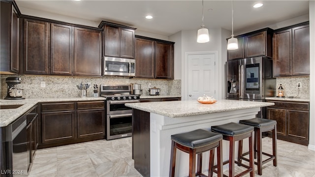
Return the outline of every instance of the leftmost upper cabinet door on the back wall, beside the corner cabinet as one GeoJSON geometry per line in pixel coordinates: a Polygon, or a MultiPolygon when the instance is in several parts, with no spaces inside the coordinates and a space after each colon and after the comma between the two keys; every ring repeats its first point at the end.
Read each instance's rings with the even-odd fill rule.
{"type": "Polygon", "coordinates": [[[48,73],[48,23],[25,19],[24,74],[48,73]]]}

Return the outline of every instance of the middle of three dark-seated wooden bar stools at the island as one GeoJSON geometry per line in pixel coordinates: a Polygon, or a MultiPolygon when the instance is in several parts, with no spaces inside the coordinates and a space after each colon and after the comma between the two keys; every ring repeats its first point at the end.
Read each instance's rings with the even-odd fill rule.
{"type": "MultiPolygon", "coordinates": [[[[253,130],[252,126],[241,125],[238,123],[230,122],[223,125],[212,126],[211,131],[223,135],[223,140],[229,141],[229,160],[223,162],[223,165],[229,164],[229,177],[234,177],[234,164],[245,167],[247,170],[238,174],[237,177],[244,176],[250,173],[250,176],[254,176],[254,158],[253,158],[253,130]],[[242,141],[243,139],[249,138],[249,149],[250,149],[250,166],[235,161],[235,142],[242,141]]],[[[216,166],[214,168],[217,168],[216,166]]],[[[213,170],[213,172],[216,172],[213,170]]],[[[224,175],[224,177],[227,177],[224,175]]]]}

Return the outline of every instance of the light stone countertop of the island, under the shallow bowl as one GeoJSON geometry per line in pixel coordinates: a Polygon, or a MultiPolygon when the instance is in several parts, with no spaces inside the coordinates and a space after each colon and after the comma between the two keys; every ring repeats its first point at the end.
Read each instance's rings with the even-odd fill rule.
{"type": "Polygon", "coordinates": [[[128,103],[128,107],[164,115],[167,117],[185,117],[191,115],[240,110],[254,107],[273,106],[274,103],[250,102],[237,100],[218,100],[215,104],[200,104],[196,100],[171,101],[171,102],[149,102],[128,103]]]}

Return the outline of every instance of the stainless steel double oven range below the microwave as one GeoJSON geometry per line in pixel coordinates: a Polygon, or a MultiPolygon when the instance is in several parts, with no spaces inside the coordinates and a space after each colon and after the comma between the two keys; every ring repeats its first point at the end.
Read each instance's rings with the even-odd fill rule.
{"type": "Polygon", "coordinates": [[[100,96],[106,98],[106,140],[132,135],[132,108],[126,103],[140,102],[130,95],[130,85],[100,85],[100,96]]]}

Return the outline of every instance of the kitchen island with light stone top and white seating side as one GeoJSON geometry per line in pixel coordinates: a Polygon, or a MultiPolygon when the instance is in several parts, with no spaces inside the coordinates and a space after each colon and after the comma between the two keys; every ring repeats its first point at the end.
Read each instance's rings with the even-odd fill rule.
{"type": "MultiPolygon", "coordinates": [[[[219,100],[203,105],[195,100],[154,103],[132,103],[132,158],[134,167],[144,177],[168,177],[171,135],[211,126],[251,119],[263,106],[273,103],[219,100]]],[[[245,141],[245,143],[247,143],[245,141]]],[[[244,145],[245,146],[245,145],[244,145]]],[[[189,155],[176,156],[176,176],[188,175],[189,155]]],[[[209,157],[205,153],[204,157],[209,157]]],[[[223,160],[228,159],[228,142],[223,141],[223,160]]],[[[203,164],[209,162],[203,158],[203,164]]],[[[203,172],[208,165],[203,165],[203,172]]]]}

